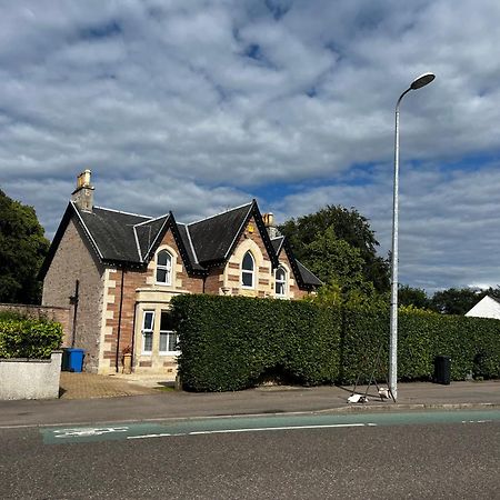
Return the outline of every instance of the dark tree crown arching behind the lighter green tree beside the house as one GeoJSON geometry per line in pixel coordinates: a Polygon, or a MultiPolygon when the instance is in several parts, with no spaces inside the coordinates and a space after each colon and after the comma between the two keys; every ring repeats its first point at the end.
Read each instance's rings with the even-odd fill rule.
{"type": "MultiPolygon", "coordinates": [[[[348,210],[341,206],[327,206],[316,213],[286,221],[279,227],[279,230],[289,239],[296,257],[309,267],[310,248],[308,246],[330,227],[338,240],[346,241],[351,248],[359,251],[364,281],[371,282],[379,292],[388,291],[390,287],[389,262],[377,256],[379,242],[374,238],[374,232],[371,230],[368,219],[356,209],[348,210]]],[[[327,281],[321,273],[318,274],[318,278],[327,281]]]]}

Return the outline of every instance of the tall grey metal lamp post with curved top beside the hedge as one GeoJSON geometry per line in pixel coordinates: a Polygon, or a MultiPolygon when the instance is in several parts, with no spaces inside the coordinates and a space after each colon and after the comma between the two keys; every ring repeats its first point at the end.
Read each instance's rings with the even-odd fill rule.
{"type": "Polygon", "coordinates": [[[394,139],[394,188],[392,196],[392,256],[391,256],[391,319],[389,342],[389,389],[394,401],[398,399],[398,218],[399,218],[399,104],[410,91],[429,84],[436,76],[423,73],[416,78],[396,103],[394,139]]]}

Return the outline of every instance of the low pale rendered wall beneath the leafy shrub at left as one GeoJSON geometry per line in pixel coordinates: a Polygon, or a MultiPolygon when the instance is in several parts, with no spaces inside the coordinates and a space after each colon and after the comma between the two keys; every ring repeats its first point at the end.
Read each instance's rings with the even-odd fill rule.
{"type": "Polygon", "coordinates": [[[50,359],[0,359],[0,400],[59,398],[62,351],[50,359]]]}

